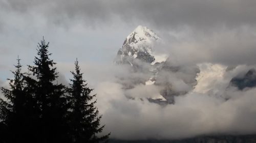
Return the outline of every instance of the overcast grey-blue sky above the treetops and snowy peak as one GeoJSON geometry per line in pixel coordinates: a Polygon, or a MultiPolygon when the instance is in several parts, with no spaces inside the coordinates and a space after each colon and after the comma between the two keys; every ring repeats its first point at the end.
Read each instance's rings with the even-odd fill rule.
{"type": "Polygon", "coordinates": [[[187,50],[195,56],[201,54],[200,58],[207,54],[204,60],[226,64],[256,61],[253,0],[1,0],[0,7],[1,61],[5,61],[1,69],[13,64],[17,55],[24,63],[31,62],[42,36],[50,41],[57,62],[71,62],[76,57],[111,62],[137,25],[148,26],[172,42],[165,48],[175,54],[187,50]]]}

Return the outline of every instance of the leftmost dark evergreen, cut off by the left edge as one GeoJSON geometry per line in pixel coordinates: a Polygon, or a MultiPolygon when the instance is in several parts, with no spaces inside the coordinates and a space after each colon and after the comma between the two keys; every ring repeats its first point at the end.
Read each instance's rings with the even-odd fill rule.
{"type": "Polygon", "coordinates": [[[7,142],[24,141],[24,128],[26,127],[26,94],[19,58],[17,59],[17,65],[14,66],[16,70],[11,71],[14,78],[8,79],[10,88],[1,88],[5,97],[5,99],[0,99],[1,128],[5,128],[2,133],[5,137],[4,140],[7,142]]]}

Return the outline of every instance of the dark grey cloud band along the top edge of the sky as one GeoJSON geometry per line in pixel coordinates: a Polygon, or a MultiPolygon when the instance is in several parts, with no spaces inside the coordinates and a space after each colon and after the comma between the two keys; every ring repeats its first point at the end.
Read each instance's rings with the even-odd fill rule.
{"type": "MultiPolygon", "coordinates": [[[[226,25],[255,25],[253,0],[217,1],[4,1],[10,11],[44,13],[51,20],[82,19],[91,24],[109,22],[114,16],[124,21],[141,21],[162,28],[189,25],[198,29],[226,25]]],[[[113,21],[112,21],[113,22],[113,21]]],[[[58,22],[57,22],[58,23],[58,22]]]]}

